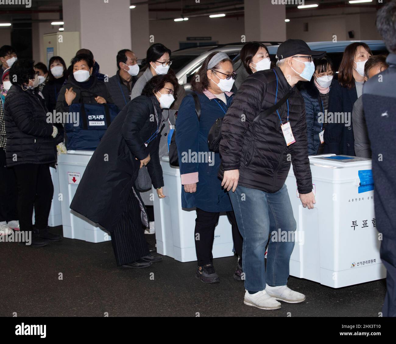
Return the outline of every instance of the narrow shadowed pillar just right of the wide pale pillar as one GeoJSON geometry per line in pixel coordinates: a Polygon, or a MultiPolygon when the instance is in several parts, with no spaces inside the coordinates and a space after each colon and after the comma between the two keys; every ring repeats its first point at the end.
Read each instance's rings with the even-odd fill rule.
{"type": "MultiPolygon", "coordinates": [[[[139,3],[131,9],[131,50],[138,59],[145,59],[150,43],[150,31],[148,26],[148,5],[139,3]]],[[[154,43],[159,43],[154,36],[154,43]]]]}

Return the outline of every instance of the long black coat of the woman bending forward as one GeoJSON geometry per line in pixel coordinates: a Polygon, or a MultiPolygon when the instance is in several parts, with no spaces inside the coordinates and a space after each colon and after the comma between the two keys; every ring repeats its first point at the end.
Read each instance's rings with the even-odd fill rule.
{"type": "MultiPolygon", "coordinates": [[[[154,101],[161,122],[159,103],[154,101]]],[[[154,104],[145,96],[133,99],[120,111],[89,160],[70,204],[70,209],[110,232],[124,212],[137,178],[139,160],[150,154],[147,169],[152,184],[155,188],[164,186],[158,155],[160,135],[147,147],[144,144],[157,129],[157,121],[151,114],[154,114],[154,104]]]]}

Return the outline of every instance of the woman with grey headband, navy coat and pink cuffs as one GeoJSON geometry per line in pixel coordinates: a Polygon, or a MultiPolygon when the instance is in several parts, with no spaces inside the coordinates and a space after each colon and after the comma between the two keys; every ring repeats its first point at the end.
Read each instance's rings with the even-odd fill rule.
{"type": "MultiPolygon", "coordinates": [[[[198,96],[201,106],[201,116],[198,121],[195,112],[195,101],[192,95],[185,97],[180,105],[176,120],[176,145],[179,154],[181,183],[183,185],[181,201],[183,208],[196,207],[196,225],[194,237],[198,266],[196,278],[204,283],[219,282],[213,266],[212,246],[215,227],[221,212],[226,211],[232,224],[234,249],[242,257],[242,236],[230,197],[221,187],[217,177],[220,167],[220,154],[210,152],[208,134],[217,118],[222,118],[227,112],[233,98],[230,92],[236,79],[232,61],[223,52],[213,52],[206,57],[198,73],[192,78],[191,89],[198,96]],[[205,161],[195,162],[188,158],[188,152],[205,156],[205,161]]],[[[241,279],[242,259],[234,279],[241,279]]]]}

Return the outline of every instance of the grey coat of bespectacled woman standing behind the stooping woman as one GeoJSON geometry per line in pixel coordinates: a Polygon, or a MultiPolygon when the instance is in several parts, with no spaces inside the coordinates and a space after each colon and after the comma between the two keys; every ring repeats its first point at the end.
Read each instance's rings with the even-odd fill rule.
{"type": "MultiPolygon", "coordinates": [[[[137,80],[135,83],[135,86],[132,88],[131,92],[131,100],[133,100],[136,97],[139,97],[139,95],[142,94],[143,88],[145,87],[146,83],[153,77],[152,72],[150,68],[147,68],[145,72],[140,76],[140,78],[137,80]]],[[[176,90],[177,93],[177,100],[171,108],[168,110],[163,110],[162,111],[162,118],[164,119],[164,124],[162,125],[162,130],[160,131],[161,134],[161,139],[160,139],[160,146],[159,146],[159,155],[160,159],[163,156],[168,155],[168,134],[169,134],[169,122],[171,125],[175,125],[176,122],[176,112],[179,110],[179,106],[181,104],[181,101],[183,100],[184,96],[186,95],[186,92],[183,88],[183,86],[179,85],[176,90]]],[[[150,194],[152,193],[151,190],[148,190],[146,192],[141,192],[140,195],[142,197],[143,202],[145,205],[153,205],[152,200],[150,200],[150,194]]],[[[157,197],[157,195],[154,195],[154,197],[157,197]]]]}

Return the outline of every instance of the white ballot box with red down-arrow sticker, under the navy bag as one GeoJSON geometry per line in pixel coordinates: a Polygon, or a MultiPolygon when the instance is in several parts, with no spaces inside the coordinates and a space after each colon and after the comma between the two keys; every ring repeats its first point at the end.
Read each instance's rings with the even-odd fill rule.
{"type": "Polygon", "coordinates": [[[59,192],[63,197],[63,236],[98,243],[111,240],[110,234],[70,209],[70,203],[92,154],[91,150],[68,150],[67,154],[58,156],[59,192]]]}

